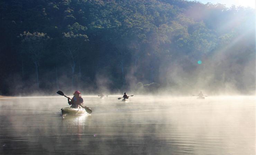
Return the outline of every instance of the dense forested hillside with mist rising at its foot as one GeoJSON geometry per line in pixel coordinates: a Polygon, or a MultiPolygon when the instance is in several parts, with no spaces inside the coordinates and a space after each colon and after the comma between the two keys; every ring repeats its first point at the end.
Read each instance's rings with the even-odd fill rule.
{"type": "Polygon", "coordinates": [[[2,0],[0,94],[252,94],[254,11],[184,0],[2,0]]]}

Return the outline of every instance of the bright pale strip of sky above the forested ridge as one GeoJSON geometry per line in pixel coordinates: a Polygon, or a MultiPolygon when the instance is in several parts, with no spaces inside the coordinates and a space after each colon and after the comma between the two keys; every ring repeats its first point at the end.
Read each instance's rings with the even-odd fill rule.
{"type": "Polygon", "coordinates": [[[255,0],[198,0],[204,4],[210,3],[221,3],[226,4],[226,7],[231,7],[232,5],[235,6],[243,6],[243,7],[251,7],[255,8],[255,0]]]}

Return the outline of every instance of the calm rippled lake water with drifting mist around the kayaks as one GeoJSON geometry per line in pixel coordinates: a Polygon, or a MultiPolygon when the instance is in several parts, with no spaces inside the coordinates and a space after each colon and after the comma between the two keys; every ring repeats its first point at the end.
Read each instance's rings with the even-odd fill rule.
{"type": "Polygon", "coordinates": [[[255,154],[254,96],[83,98],[64,118],[62,96],[0,99],[0,154],[255,154]]]}

